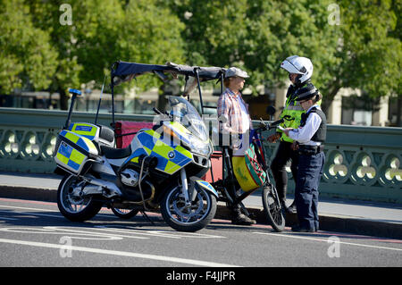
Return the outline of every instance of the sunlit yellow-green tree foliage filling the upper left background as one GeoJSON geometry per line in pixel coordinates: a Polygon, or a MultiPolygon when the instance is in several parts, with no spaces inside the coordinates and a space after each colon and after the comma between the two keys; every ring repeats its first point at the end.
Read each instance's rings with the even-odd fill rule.
{"type": "MultiPolygon", "coordinates": [[[[184,62],[180,38],[184,26],[155,0],[12,0],[4,4],[9,18],[0,21],[0,30],[14,33],[0,42],[5,51],[0,60],[5,70],[0,73],[0,88],[6,92],[18,87],[18,82],[21,86],[27,77],[35,89],[59,92],[66,109],[68,88],[80,88],[91,80],[102,84],[116,61],[184,62]],[[62,4],[70,4],[71,24],[63,24],[62,4]]],[[[160,84],[145,82],[140,87],[160,84]]]]}

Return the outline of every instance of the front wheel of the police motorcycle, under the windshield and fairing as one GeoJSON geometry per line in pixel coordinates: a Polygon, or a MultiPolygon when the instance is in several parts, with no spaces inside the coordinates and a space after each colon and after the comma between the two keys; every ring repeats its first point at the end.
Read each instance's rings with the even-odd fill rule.
{"type": "Polygon", "coordinates": [[[195,189],[196,197],[186,205],[179,185],[169,189],[163,197],[161,213],[163,220],[176,231],[199,231],[215,216],[216,197],[205,189],[195,189]]]}

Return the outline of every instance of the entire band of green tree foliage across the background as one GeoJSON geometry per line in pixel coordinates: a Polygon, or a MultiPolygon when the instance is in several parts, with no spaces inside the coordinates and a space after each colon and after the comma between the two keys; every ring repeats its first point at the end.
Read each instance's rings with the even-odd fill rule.
{"type": "MultiPolygon", "coordinates": [[[[117,60],[239,66],[251,87],[286,82],[292,54],[314,63],[328,107],[340,88],[401,95],[396,0],[0,0],[0,91],[101,83],[117,60]],[[71,5],[71,25],[61,23],[71,5]]],[[[153,77],[139,88],[159,86],[153,77]]],[[[63,105],[65,108],[66,105],[63,105]]]]}

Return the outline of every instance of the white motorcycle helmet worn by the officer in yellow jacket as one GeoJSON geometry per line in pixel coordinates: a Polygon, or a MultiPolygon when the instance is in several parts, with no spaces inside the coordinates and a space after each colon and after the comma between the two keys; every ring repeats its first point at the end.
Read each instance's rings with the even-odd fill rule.
{"type": "Polygon", "coordinates": [[[297,83],[306,82],[313,75],[313,63],[311,60],[298,55],[292,55],[285,59],[281,63],[281,68],[289,73],[299,74],[297,76],[297,83]]]}

